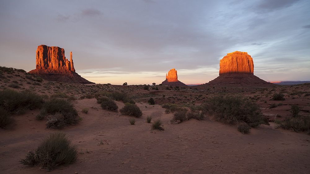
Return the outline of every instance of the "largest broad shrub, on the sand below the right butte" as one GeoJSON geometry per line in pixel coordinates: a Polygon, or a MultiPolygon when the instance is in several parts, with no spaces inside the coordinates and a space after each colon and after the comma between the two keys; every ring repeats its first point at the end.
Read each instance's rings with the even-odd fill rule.
{"type": "Polygon", "coordinates": [[[203,105],[203,110],[222,123],[237,124],[243,121],[251,127],[265,123],[257,104],[241,96],[214,96],[203,105]]]}

